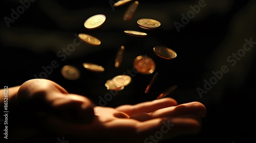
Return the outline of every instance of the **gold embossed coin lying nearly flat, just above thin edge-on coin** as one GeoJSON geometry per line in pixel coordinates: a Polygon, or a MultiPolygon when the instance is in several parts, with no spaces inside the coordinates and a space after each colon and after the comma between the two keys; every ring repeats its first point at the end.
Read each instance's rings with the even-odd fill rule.
{"type": "Polygon", "coordinates": [[[142,18],[137,21],[138,25],[144,29],[155,29],[160,27],[161,23],[155,19],[142,18]]]}

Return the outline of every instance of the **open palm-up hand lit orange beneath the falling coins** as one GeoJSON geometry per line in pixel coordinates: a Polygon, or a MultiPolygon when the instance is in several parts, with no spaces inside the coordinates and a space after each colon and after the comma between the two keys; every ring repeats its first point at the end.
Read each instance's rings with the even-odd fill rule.
{"type": "Polygon", "coordinates": [[[88,98],[45,79],[22,84],[16,101],[19,111],[27,112],[24,128],[31,125],[33,133],[68,136],[76,142],[154,142],[196,134],[206,115],[202,103],[178,105],[172,98],[116,108],[93,107],[88,98]]]}

